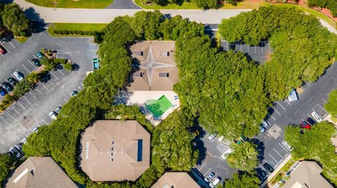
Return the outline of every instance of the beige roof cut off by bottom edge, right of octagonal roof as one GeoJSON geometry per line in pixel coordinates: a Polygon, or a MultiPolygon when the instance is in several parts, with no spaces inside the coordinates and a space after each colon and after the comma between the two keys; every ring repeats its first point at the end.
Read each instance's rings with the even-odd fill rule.
{"type": "Polygon", "coordinates": [[[152,188],[200,188],[187,173],[164,173],[152,188]]]}

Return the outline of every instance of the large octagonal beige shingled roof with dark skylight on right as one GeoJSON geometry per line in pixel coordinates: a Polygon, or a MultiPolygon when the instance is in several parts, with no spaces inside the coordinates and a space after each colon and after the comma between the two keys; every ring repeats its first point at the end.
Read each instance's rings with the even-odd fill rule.
{"type": "Polygon", "coordinates": [[[80,166],[93,181],[135,181],[150,166],[150,133],[136,121],[97,121],[82,135],[80,166]]]}

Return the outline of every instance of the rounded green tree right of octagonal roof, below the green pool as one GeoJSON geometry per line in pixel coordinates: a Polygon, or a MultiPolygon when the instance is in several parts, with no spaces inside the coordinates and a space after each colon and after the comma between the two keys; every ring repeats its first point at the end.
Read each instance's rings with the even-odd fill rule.
{"type": "Polygon", "coordinates": [[[187,130],[190,125],[189,117],[175,111],[154,129],[151,145],[152,163],[156,168],[190,171],[196,164],[198,152],[192,148],[193,136],[187,130]]]}

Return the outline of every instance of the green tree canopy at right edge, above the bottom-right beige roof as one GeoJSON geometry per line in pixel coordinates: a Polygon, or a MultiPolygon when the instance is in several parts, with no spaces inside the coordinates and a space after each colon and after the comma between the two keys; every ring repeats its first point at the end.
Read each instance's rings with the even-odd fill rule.
{"type": "Polygon", "coordinates": [[[304,131],[301,131],[300,126],[286,126],[284,138],[293,147],[293,157],[318,161],[322,164],[326,178],[336,184],[337,154],[330,140],[335,133],[333,124],[320,122],[304,131]]]}

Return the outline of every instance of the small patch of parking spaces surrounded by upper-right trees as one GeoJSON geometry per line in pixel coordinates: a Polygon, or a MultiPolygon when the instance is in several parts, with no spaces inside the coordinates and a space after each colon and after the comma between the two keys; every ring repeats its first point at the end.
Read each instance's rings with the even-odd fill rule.
{"type": "Polygon", "coordinates": [[[243,52],[245,55],[253,59],[255,62],[263,63],[267,60],[268,56],[272,52],[268,41],[260,41],[258,45],[247,45],[242,41],[236,43],[228,43],[227,41],[221,41],[221,47],[223,50],[234,50],[236,52],[243,52]]]}

